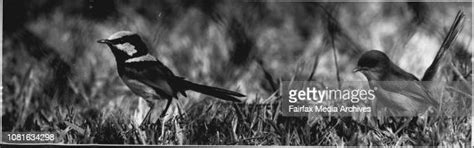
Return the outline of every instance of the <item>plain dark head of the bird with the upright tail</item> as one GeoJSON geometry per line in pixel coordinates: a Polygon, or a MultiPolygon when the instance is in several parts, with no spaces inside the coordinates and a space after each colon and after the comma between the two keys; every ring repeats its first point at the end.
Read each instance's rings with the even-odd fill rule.
{"type": "Polygon", "coordinates": [[[354,72],[361,72],[369,80],[380,80],[390,70],[390,58],[378,50],[370,50],[362,54],[354,72]]]}

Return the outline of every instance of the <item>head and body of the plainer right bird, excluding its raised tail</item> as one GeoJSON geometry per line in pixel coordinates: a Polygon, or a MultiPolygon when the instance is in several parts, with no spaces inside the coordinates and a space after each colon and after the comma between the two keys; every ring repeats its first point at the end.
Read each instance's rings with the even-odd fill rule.
{"type": "Polygon", "coordinates": [[[417,77],[395,65],[381,51],[363,53],[354,72],[361,72],[375,89],[377,106],[388,108],[394,116],[417,116],[429,106],[439,105],[417,77]]]}

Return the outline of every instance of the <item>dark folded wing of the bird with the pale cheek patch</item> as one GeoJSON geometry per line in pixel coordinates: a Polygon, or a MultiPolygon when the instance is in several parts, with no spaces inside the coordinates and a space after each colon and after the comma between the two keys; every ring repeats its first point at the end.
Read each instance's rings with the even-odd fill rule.
{"type": "Polygon", "coordinates": [[[176,97],[177,92],[180,91],[176,81],[182,78],[175,76],[168,67],[159,61],[127,63],[124,72],[166,97],[176,97]]]}

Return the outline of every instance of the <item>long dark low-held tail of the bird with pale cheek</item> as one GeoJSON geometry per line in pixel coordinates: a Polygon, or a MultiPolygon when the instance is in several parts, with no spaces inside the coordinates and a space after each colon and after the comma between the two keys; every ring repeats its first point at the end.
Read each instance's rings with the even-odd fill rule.
{"type": "Polygon", "coordinates": [[[237,97],[245,97],[245,95],[238,92],[234,92],[234,91],[230,91],[230,90],[226,90],[222,88],[217,88],[217,87],[196,84],[196,83],[189,82],[186,80],[184,80],[184,86],[186,87],[186,89],[203,93],[209,96],[213,96],[219,99],[228,100],[228,101],[241,102],[241,100],[237,99],[237,97]]]}

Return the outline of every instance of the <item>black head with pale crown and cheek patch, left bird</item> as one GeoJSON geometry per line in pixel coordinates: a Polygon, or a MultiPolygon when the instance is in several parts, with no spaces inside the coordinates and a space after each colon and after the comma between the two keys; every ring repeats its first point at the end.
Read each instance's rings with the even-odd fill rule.
{"type": "Polygon", "coordinates": [[[125,61],[148,54],[148,49],[140,36],[130,31],[119,31],[109,38],[97,42],[107,44],[117,61],[125,61]]]}

